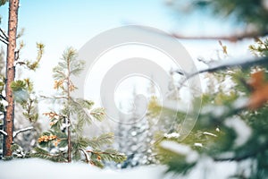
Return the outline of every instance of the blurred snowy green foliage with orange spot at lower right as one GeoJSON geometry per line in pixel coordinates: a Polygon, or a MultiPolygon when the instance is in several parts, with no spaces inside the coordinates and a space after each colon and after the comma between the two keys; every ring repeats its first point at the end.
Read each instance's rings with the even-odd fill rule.
{"type": "MultiPolygon", "coordinates": [[[[257,39],[249,48],[255,55],[266,55],[266,41],[257,39]]],[[[202,109],[193,131],[183,141],[164,139],[172,142],[160,144],[160,158],[169,171],[185,175],[202,159],[210,158],[242,165],[236,178],[268,177],[266,69],[254,65],[214,72],[220,85],[200,97],[202,109]],[[223,85],[228,79],[230,88],[223,85]]]]}

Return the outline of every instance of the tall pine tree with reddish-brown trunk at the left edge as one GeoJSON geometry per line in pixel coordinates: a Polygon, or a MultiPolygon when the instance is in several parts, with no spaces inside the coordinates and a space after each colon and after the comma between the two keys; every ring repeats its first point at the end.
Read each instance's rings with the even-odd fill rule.
{"type": "MultiPolygon", "coordinates": [[[[37,98],[34,95],[33,84],[29,79],[20,80],[16,76],[16,70],[18,66],[26,66],[29,70],[35,71],[38,68],[38,63],[43,55],[44,45],[38,43],[38,57],[37,60],[21,61],[20,51],[24,47],[23,42],[20,42],[17,47],[17,39],[21,38],[23,29],[17,32],[18,27],[18,9],[19,1],[2,0],[0,5],[5,3],[9,4],[9,19],[8,30],[5,34],[4,30],[0,28],[0,40],[7,46],[5,71],[1,71],[5,74],[1,74],[1,112],[4,114],[4,129],[1,131],[4,135],[3,142],[3,156],[4,158],[12,158],[13,155],[13,139],[21,132],[26,132],[32,129],[27,127],[24,129],[18,129],[14,131],[14,110],[16,105],[21,105],[23,111],[23,117],[29,119],[29,122],[36,122],[38,118],[37,113],[37,98]]],[[[21,120],[21,119],[20,119],[21,120]]]]}

